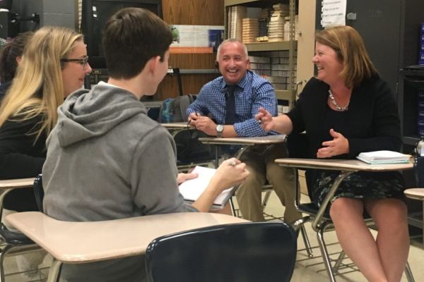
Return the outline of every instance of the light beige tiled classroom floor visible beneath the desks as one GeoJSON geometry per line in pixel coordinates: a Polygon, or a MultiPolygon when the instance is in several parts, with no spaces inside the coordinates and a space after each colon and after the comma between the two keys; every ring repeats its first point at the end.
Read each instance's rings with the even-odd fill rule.
{"type": "MultiPolygon", "coordinates": [[[[283,216],[284,208],[279,202],[278,197],[276,197],[275,193],[272,192],[269,204],[266,206],[264,212],[269,216],[266,216],[267,219],[273,218],[281,218],[283,216]]],[[[307,233],[312,246],[317,246],[317,240],[314,235],[314,231],[310,228],[310,224],[306,225],[307,233]]],[[[373,231],[373,233],[375,233],[373,231]]],[[[338,257],[338,253],[341,251],[341,247],[338,245],[336,240],[336,234],[334,231],[329,231],[325,233],[324,236],[326,243],[329,245],[329,253],[332,254],[331,257],[336,259],[338,257]]],[[[424,269],[423,258],[424,258],[424,247],[418,243],[412,243],[411,249],[409,252],[408,262],[413,271],[413,276],[415,280],[424,281],[424,269]]],[[[48,266],[51,259],[46,257],[43,264],[40,265],[41,271],[37,272],[33,278],[28,278],[24,276],[18,271],[16,266],[16,257],[10,256],[5,259],[5,269],[6,269],[6,282],[26,282],[26,281],[46,281],[48,266]]],[[[343,264],[346,265],[343,268],[336,279],[338,282],[347,282],[347,281],[355,281],[361,282],[366,281],[362,274],[357,271],[356,267],[351,264],[349,259],[344,259],[343,264]]],[[[320,282],[320,281],[329,281],[329,278],[324,269],[324,264],[322,263],[322,258],[320,257],[320,252],[317,247],[314,248],[314,257],[307,257],[307,253],[305,252],[305,245],[303,243],[302,237],[299,236],[298,239],[298,257],[297,264],[295,266],[295,271],[293,274],[293,278],[291,279],[293,282],[320,282]]],[[[407,281],[406,277],[402,278],[402,282],[407,281]]]]}

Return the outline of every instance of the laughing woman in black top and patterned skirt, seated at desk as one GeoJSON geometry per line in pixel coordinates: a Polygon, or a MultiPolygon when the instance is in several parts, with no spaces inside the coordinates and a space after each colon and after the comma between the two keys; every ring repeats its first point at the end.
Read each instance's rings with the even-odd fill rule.
{"type": "MultiPolygon", "coordinates": [[[[399,151],[401,129],[394,94],[372,65],[363,39],[352,27],[316,35],[317,78],[312,78],[290,113],[272,118],[260,109],[265,130],[306,131],[310,158],[355,159],[360,152],[399,151]]],[[[320,204],[338,172],[318,171],[312,200],[320,204]]],[[[338,240],[368,281],[400,281],[409,250],[404,185],[398,172],[348,176],[329,209],[338,240]],[[375,240],[364,210],[378,226],[375,240]]]]}

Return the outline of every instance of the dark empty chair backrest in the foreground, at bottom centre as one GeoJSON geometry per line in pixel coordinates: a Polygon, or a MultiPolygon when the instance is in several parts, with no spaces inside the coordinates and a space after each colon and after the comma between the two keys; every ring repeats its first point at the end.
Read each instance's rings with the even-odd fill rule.
{"type": "Polygon", "coordinates": [[[282,221],[210,226],[153,240],[146,272],[150,282],[290,281],[296,250],[282,221]]]}

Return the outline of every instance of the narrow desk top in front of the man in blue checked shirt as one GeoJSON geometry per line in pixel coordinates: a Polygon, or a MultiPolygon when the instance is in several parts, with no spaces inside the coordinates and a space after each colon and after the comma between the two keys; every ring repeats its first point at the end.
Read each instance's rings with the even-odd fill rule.
{"type": "Polygon", "coordinates": [[[261,137],[200,137],[200,142],[213,145],[271,145],[285,142],[285,135],[261,137]]]}

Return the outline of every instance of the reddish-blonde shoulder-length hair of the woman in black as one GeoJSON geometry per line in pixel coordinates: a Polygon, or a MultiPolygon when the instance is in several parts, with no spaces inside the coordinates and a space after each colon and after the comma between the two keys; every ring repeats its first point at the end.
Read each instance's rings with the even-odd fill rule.
{"type": "Polygon", "coordinates": [[[346,87],[358,86],[364,79],[378,75],[362,37],[353,27],[343,25],[326,28],[317,32],[315,40],[336,51],[338,60],[343,63],[340,77],[346,87]]]}

